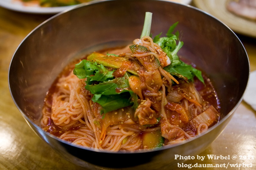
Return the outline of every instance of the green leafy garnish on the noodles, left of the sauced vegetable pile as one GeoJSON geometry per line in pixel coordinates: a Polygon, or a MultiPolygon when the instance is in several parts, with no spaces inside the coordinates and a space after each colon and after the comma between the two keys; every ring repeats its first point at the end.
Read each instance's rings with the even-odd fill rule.
{"type": "Polygon", "coordinates": [[[99,103],[104,113],[129,105],[136,109],[137,95],[135,97],[134,92],[128,90],[128,73],[121,78],[114,78],[114,71],[109,71],[103,65],[82,60],[75,65],[73,73],[79,79],[87,78],[85,89],[94,94],[92,101],[99,103]]]}

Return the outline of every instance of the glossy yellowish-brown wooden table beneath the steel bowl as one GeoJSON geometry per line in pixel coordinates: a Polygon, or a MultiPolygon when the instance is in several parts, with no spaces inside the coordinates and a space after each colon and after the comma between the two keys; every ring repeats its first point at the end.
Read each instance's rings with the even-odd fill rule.
{"type": "MultiPolygon", "coordinates": [[[[0,7],[0,170],[83,169],[55,153],[30,129],[13,103],[9,92],[8,69],[12,55],[24,37],[49,17],[51,15],[25,14],[0,7]]],[[[256,70],[256,39],[241,35],[239,38],[248,52],[251,71],[256,70]]],[[[199,156],[205,156],[205,160],[194,159],[185,163],[252,163],[252,168],[241,169],[256,169],[256,111],[242,102],[223,133],[199,156]],[[237,155],[238,158],[235,160],[209,160],[207,158],[209,154],[230,155],[230,157],[237,155]],[[254,159],[239,160],[239,155],[251,155],[254,156],[254,159]]],[[[198,169],[212,170],[215,168],[198,169]]],[[[228,169],[237,170],[239,168],[229,167],[228,169]]]]}

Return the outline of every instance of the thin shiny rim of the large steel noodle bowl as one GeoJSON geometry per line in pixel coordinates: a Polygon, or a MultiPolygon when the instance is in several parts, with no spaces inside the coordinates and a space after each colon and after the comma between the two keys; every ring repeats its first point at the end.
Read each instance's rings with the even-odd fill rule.
{"type": "MultiPolygon", "coordinates": [[[[18,106],[18,104],[16,103],[15,101],[15,98],[11,92],[11,86],[10,86],[10,68],[11,68],[11,65],[12,63],[14,62],[14,58],[15,58],[15,54],[17,53],[17,51],[19,50],[21,44],[23,44],[24,41],[26,41],[26,39],[28,37],[30,37],[30,35],[32,35],[35,31],[37,31],[41,26],[43,26],[44,24],[47,24],[47,22],[49,22],[50,20],[56,18],[56,17],[59,17],[61,16],[62,14],[64,13],[68,13],[68,12],[72,12],[73,10],[77,9],[77,8],[81,8],[81,7],[87,7],[87,6],[90,6],[90,5],[94,5],[94,4],[100,4],[100,3],[104,3],[104,2],[107,2],[107,1],[116,1],[116,0],[94,0],[94,1],[91,1],[91,2],[87,2],[87,3],[84,3],[84,4],[80,4],[78,6],[75,6],[75,7],[72,7],[70,9],[67,9],[65,11],[62,11],[56,15],[53,15],[52,17],[48,18],[47,20],[45,20],[44,22],[42,22],[41,24],[39,24],[36,28],[34,28],[32,31],[30,31],[30,33],[28,33],[28,35],[26,35],[26,37],[23,39],[23,41],[21,41],[21,43],[19,44],[19,46],[17,47],[17,49],[15,50],[14,54],[13,54],[13,57],[11,59],[11,62],[10,62],[10,65],[9,65],[9,71],[8,71],[8,85],[9,85],[9,91],[11,93],[11,97],[13,99],[13,102],[15,103],[16,107],[19,109],[19,111],[21,112],[21,114],[23,115],[23,117],[25,118],[26,121],[28,121],[30,124],[32,124],[34,127],[36,127],[36,129],[38,129],[41,133],[43,133],[44,135],[47,135],[55,140],[58,140],[58,142],[61,142],[61,143],[64,143],[64,144],[67,144],[67,145],[70,145],[70,146],[73,146],[73,147],[76,147],[76,148],[79,148],[79,149],[82,149],[82,150],[89,150],[89,151],[92,151],[92,152],[100,152],[100,153],[111,153],[111,154],[137,154],[137,153],[148,153],[148,152],[155,152],[155,151],[159,151],[159,150],[166,150],[166,149],[169,149],[169,148],[174,148],[176,146],[180,146],[180,145],[183,145],[183,144],[186,144],[188,142],[191,142],[192,140],[196,140],[200,137],[202,137],[203,135],[209,133],[210,131],[212,131],[213,129],[215,129],[219,124],[222,124],[223,122],[225,122],[230,116],[233,115],[233,113],[235,112],[235,110],[237,109],[237,107],[239,106],[239,104],[241,103],[241,101],[243,100],[243,96],[245,95],[245,92],[248,88],[248,80],[249,80],[249,76],[250,76],[250,64],[249,64],[249,59],[248,59],[248,55],[247,55],[247,52],[245,50],[245,47],[243,46],[242,42],[240,41],[240,39],[237,37],[237,35],[226,25],[224,24],[222,21],[220,21],[218,18],[214,17],[213,15],[199,9],[199,8],[196,8],[194,6],[190,6],[188,4],[181,4],[181,3],[178,3],[178,2],[170,2],[168,0],[154,0],[154,1],[160,1],[160,2],[168,2],[168,3],[173,3],[173,4],[178,4],[178,5],[181,5],[181,6],[186,6],[188,8],[192,8],[193,10],[196,10],[196,11],[199,11],[201,13],[204,13],[205,15],[207,15],[208,17],[211,17],[213,19],[215,19],[217,22],[220,22],[220,24],[222,24],[224,27],[228,28],[228,30],[230,32],[232,32],[233,36],[239,41],[240,45],[243,47],[243,50],[246,54],[246,57],[247,57],[247,62],[248,62],[248,80],[247,80],[247,85],[245,87],[245,90],[243,92],[243,95],[241,96],[240,100],[236,103],[236,105],[233,107],[233,109],[226,115],[224,116],[217,124],[215,124],[214,126],[210,127],[205,133],[202,133],[200,135],[197,135],[196,137],[193,137],[192,139],[187,139],[185,140],[184,142],[180,142],[178,144],[173,144],[173,145],[168,145],[168,146],[163,146],[161,148],[157,148],[157,149],[149,149],[149,150],[137,150],[137,151],[132,151],[132,152],[128,152],[128,151],[118,151],[118,152],[110,152],[110,151],[102,151],[102,150],[98,150],[98,149],[94,149],[94,148],[85,148],[83,146],[78,146],[78,145],[75,145],[73,143],[70,143],[68,141],[65,141],[65,140],[61,140],[59,139],[58,137],[56,137],[55,135],[52,135],[50,133],[47,133],[46,131],[44,131],[40,126],[38,126],[37,124],[35,124],[32,120],[30,120],[30,118],[28,118],[28,116],[26,116],[26,114],[21,110],[21,108],[18,106]]],[[[224,129],[223,129],[224,130],[224,129]]],[[[222,130],[222,131],[223,131],[222,130]]],[[[220,134],[219,134],[220,135],[220,134]]]]}

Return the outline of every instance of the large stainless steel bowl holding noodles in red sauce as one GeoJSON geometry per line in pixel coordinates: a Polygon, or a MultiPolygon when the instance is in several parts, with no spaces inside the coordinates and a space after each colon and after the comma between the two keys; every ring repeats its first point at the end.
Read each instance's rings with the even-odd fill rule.
{"type": "Polygon", "coordinates": [[[249,76],[248,56],[222,22],[191,6],[164,0],[93,1],[40,24],[17,48],[9,67],[9,89],[26,122],[38,136],[72,163],[88,169],[170,168],[174,155],[195,155],[222,132],[242,100],[249,76]],[[177,30],[184,42],[179,55],[192,61],[213,82],[222,119],[207,133],[151,152],[98,152],[59,140],[40,128],[43,100],[62,69],[81,52],[127,44],[139,38],[145,12],[153,13],[151,32],[177,30]]]}

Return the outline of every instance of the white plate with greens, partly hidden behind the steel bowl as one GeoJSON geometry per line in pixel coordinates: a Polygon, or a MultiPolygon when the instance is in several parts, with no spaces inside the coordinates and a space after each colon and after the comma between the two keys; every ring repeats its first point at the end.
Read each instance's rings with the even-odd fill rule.
{"type": "MultiPolygon", "coordinates": [[[[180,2],[181,4],[190,4],[192,0],[167,0],[173,2],[180,2]]],[[[62,7],[40,7],[40,6],[24,6],[22,2],[18,0],[0,0],[0,6],[11,9],[13,11],[19,11],[24,13],[36,13],[36,14],[56,14],[66,9],[70,9],[73,6],[62,6],[62,7]]]]}

